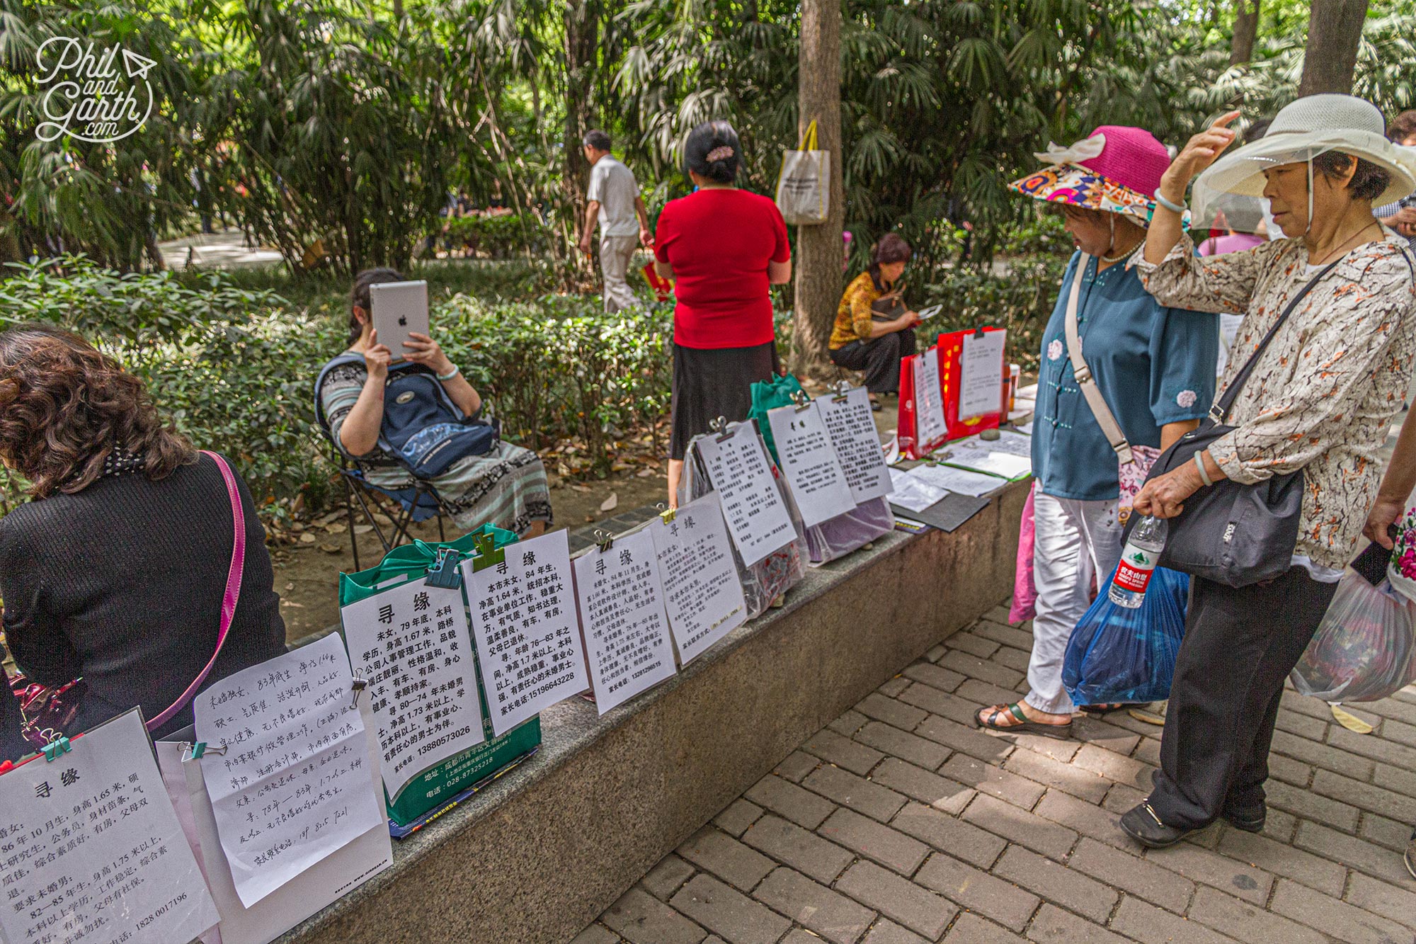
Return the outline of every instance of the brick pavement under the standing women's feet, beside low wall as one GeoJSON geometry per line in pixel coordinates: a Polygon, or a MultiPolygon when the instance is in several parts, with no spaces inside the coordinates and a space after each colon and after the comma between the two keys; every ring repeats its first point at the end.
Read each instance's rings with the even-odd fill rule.
{"type": "Polygon", "coordinates": [[[1416,693],[1284,695],[1262,835],[1216,825],[1143,850],[1116,825],[1160,729],[1076,740],[976,730],[1027,690],[1029,626],[995,608],[817,731],[572,944],[1416,941],[1416,693]]]}

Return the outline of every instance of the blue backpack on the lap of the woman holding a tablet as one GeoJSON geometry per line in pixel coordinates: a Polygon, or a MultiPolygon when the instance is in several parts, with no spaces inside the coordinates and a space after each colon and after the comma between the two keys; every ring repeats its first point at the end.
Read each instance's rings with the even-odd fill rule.
{"type": "MultiPolygon", "coordinates": [[[[362,364],[360,354],[340,354],[320,370],[314,381],[314,412],[329,429],[320,404],[320,387],[336,367],[362,364]]],[[[477,411],[481,415],[481,411],[477,411]]],[[[415,478],[432,479],[469,455],[486,455],[501,438],[501,424],[462,411],[443,390],[438,377],[421,364],[405,363],[388,370],[384,384],[384,421],[378,429],[378,448],[408,469],[415,478]]]]}

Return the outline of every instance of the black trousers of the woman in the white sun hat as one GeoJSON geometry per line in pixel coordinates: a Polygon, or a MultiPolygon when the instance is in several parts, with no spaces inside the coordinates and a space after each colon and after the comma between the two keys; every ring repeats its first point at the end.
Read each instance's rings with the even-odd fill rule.
{"type": "Polygon", "coordinates": [[[1233,588],[1192,577],[1150,804],[1167,826],[1197,829],[1225,811],[1257,812],[1283,680],[1323,621],[1337,584],[1301,567],[1233,588]]]}

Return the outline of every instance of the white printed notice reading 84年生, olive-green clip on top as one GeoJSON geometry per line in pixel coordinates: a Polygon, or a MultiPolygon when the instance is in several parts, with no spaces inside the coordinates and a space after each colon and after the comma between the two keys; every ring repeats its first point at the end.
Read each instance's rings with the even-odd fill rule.
{"type": "Polygon", "coordinates": [[[491,730],[517,724],[590,687],[575,621],[575,581],[566,532],[508,544],[500,564],[462,578],[477,632],[491,730]]]}

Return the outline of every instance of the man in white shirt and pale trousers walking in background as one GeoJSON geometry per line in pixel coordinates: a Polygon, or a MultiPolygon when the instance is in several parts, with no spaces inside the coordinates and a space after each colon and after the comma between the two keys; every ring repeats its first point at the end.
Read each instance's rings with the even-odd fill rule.
{"type": "Polygon", "coordinates": [[[590,162],[590,186],[585,193],[585,232],[581,252],[590,254],[590,234],[600,224],[600,274],[605,276],[605,310],[617,312],[637,305],[634,291],[624,281],[637,242],[650,245],[649,211],[639,196],[633,172],[610,154],[610,136],[602,130],[586,132],[582,139],[585,159],[590,162]],[[639,240],[634,220],[639,218],[639,240]]]}

